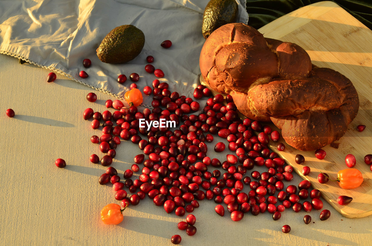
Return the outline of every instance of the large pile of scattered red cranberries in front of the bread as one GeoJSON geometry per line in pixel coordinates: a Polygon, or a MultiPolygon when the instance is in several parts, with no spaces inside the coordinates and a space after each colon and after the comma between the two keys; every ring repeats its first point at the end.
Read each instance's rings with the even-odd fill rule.
{"type": "MultiPolygon", "coordinates": [[[[285,209],[310,212],[312,208],[323,208],[320,191],[309,191],[309,181],[301,181],[297,186],[283,183],[293,179],[293,168],[286,166],[285,161],[268,148],[270,139],[279,140],[279,133],[272,132],[269,126],[260,122],[242,120],[230,95],[224,98],[218,94],[209,98],[202,112],[196,115],[192,113],[199,110],[199,103],[171,92],[166,82],[154,80],[153,88],[147,86],[144,92],[153,96],[152,110],[138,111],[132,106],[112,113],[109,110],[94,112],[91,108],[84,111],[85,120],[93,119],[93,129],[102,126],[101,136],[94,135],[91,141],[99,144],[105,155],[100,159],[93,154],[90,161],[109,166],[99,183],[113,184],[115,199],[121,201],[122,207],[137,205],[148,196],[155,205],[164,206],[167,213],[182,217],[198,208],[198,201],[207,199],[214,200],[215,211],[220,216],[224,216],[227,208],[233,221],[241,220],[246,213],[257,216],[267,211],[273,214],[273,220],[279,220],[285,209]],[[139,119],[173,120],[177,129],[151,127],[147,130],[147,126],[139,126],[139,119]],[[218,142],[214,150],[208,152],[205,142],[212,142],[214,135],[227,140],[231,152],[226,159],[207,156],[207,153],[212,152],[213,156],[213,151],[225,150],[225,143],[218,142]],[[110,165],[122,140],[138,145],[143,153],[135,156],[131,169],[120,177],[110,165]],[[267,171],[251,171],[255,166],[266,166],[267,171]],[[138,172],[139,177],[133,179],[133,174],[138,172]],[[248,187],[247,193],[243,192],[244,187],[248,187]],[[300,201],[308,197],[311,202],[300,201]]],[[[87,99],[95,101],[94,96],[90,93],[87,99]]],[[[199,85],[194,97],[200,99],[203,96],[211,96],[211,91],[199,85]]],[[[112,107],[111,100],[106,101],[106,107],[112,107]]],[[[304,161],[303,156],[297,158],[304,161]]],[[[330,216],[328,210],[322,214],[323,219],[330,216]]],[[[307,224],[310,220],[309,216],[304,218],[307,224]]],[[[187,230],[190,226],[193,225],[182,229],[187,230]]],[[[282,231],[288,233],[290,227],[285,225],[282,231]]],[[[174,242],[180,242],[179,235],[176,237],[174,242]]]]}

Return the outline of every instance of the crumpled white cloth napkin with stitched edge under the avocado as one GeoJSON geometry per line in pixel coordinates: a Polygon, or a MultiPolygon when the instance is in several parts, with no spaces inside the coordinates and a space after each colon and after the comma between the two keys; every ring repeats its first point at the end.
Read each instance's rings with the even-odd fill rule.
{"type": "MultiPolygon", "coordinates": [[[[192,97],[199,83],[199,54],[205,39],[202,16],[209,0],[2,0],[0,1],[0,53],[57,71],[97,90],[122,97],[140,75],[142,90],[154,74],[145,72],[146,57],[164,71],[171,91],[192,97]],[[106,64],[96,55],[102,39],[116,26],[134,25],[144,32],[141,54],[125,64],[106,64]],[[169,49],[160,43],[169,39],[169,49]],[[83,67],[83,59],[92,61],[83,67]],[[84,70],[88,78],[80,78],[84,70]],[[124,84],[117,82],[125,74],[124,84]]],[[[246,1],[239,6],[237,22],[247,23],[246,1]]],[[[58,75],[57,75],[58,78],[58,75]]],[[[46,78],[45,78],[46,80],[46,78]]],[[[144,101],[150,104],[151,99],[144,101]]]]}

